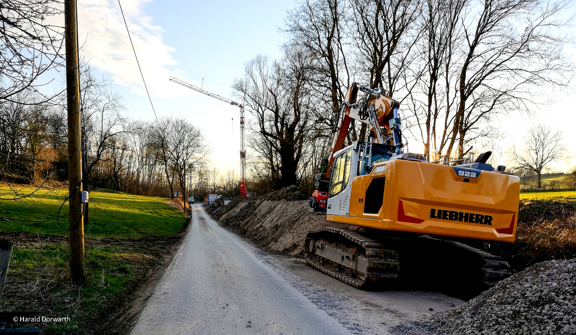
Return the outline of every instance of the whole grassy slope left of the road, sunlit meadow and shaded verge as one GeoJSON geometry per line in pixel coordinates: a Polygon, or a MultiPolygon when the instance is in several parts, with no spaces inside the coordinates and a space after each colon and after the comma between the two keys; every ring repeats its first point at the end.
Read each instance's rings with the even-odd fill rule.
{"type": "MultiPolygon", "coordinates": [[[[54,218],[66,193],[37,193],[36,199],[24,200],[25,205],[1,201],[0,215],[31,220],[54,218]]],[[[3,326],[37,327],[43,334],[126,332],[130,317],[111,316],[118,314],[136,288],[166,263],[185,220],[162,198],[93,192],[90,200],[83,287],[69,284],[67,231],[55,221],[0,223],[0,237],[14,243],[0,310],[35,310],[46,317],[71,319],[3,326]]],[[[65,214],[67,206],[63,209],[65,214]]],[[[67,227],[67,219],[60,224],[67,227]]]]}

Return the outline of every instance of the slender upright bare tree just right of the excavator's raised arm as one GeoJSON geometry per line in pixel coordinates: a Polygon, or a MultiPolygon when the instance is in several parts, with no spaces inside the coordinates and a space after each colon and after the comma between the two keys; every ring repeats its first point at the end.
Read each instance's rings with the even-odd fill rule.
{"type": "Polygon", "coordinates": [[[411,126],[408,131],[422,142],[429,161],[439,159],[450,140],[449,125],[454,117],[450,68],[465,3],[466,0],[426,0],[418,21],[422,30],[419,61],[412,64],[411,72],[419,79],[415,89],[407,92],[405,101],[414,119],[414,122],[407,119],[411,126]]]}

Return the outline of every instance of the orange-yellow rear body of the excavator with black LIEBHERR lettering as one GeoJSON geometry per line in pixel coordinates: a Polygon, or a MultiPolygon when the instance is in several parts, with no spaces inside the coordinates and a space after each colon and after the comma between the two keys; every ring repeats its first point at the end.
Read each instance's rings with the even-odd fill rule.
{"type": "Polygon", "coordinates": [[[475,171],[404,159],[378,163],[372,173],[352,178],[349,214],[327,215],[327,220],[382,230],[514,242],[520,179],[475,171]]]}

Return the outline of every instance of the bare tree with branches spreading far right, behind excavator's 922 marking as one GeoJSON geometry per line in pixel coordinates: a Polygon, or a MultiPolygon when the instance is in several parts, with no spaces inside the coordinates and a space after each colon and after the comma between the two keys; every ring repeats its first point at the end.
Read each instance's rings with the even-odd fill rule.
{"type": "Polygon", "coordinates": [[[563,0],[469,3],[472,15],[462,18],[458,108],[446,155],[457,143],[457,156],[463,158],[465,144],[490,131],[479,123],[490,121],[496,113],[525,109],[537,96],[530,90],[566,85],[564,78],[572,68],[562,46],[569,39],[559,29],[571,18],[560,19],[559,14],[568,5],[563,0]]]}

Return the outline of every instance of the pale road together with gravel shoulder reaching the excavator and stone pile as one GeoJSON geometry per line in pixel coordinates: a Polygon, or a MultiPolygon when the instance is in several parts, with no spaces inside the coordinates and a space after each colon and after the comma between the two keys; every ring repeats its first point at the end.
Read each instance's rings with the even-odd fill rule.
{"type": "Polygon", "coordinates": [[[185,243],[132,334],[387,334],[461,303],[435,292],[357,290],[299,258],[264,252],[199,205],[192,212],[185,243]]]}

